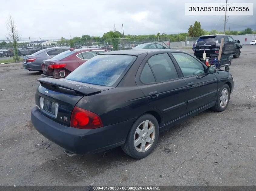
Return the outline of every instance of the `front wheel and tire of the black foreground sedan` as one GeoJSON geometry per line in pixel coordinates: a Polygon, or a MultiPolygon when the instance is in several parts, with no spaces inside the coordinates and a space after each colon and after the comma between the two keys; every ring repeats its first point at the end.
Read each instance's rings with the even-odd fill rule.
{"type": "Polygon", "coordinates": [[[228,107],[230,98],[230,88],[228,84],[224,84],[219,91],[215,105],[211,108],[214,111],[222,112],[228,107]]]}

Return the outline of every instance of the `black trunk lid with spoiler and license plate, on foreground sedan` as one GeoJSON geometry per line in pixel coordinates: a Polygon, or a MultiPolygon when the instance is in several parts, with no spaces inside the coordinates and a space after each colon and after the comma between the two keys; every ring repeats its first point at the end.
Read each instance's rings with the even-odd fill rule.
{"type": "Polygon", "coordinates": [[[38,81],[40,85],[35,95],[37,108],[45,116],[65,126],[70,125],[73,108],[82,97],[113,88],[80,83],[64,78],[40,78],[38,81]]]}

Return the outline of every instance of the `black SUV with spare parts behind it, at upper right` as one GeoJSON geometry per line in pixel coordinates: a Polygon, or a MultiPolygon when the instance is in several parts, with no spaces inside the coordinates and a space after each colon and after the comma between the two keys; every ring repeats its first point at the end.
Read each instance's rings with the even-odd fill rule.
{"type": "Polygon", "coordinates": [[[202,58],[205,51],[206,57],[211,57],[211,54],[219,53],[221,39],[224,38],[222,54],[233,55],[234,58],[240,56],[242,45],[240,41],[234,40],[232,37],[225,34],[201,36],[195,43],[194,56],[202,58]]]}

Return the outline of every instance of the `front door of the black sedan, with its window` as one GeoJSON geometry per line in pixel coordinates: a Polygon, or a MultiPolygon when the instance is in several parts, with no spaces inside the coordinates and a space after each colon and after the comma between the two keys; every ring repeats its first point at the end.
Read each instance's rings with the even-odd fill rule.
{"type": "Polygon", "coordinates": [[[184,75],[188,86],[188,107],[190,113],[215,102],[218,82],[215,74],[208,74],[206,66],[187,53],[172,53],[184,75]]]}

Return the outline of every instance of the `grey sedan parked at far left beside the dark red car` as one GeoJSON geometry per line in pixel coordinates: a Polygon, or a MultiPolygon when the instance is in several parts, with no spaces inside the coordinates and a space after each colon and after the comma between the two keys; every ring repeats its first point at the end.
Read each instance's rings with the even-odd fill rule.
{"type": "Polygon", "coordinates": [[[39,50],[38,52],[29,55],[23,56],[23,68],[28,71],[42,71],[42,62],[52,58],[53,56],[58,55],[66,50],[69,50],[69,47],[55,47],[55,48],[46,48],[39,50]]]}

